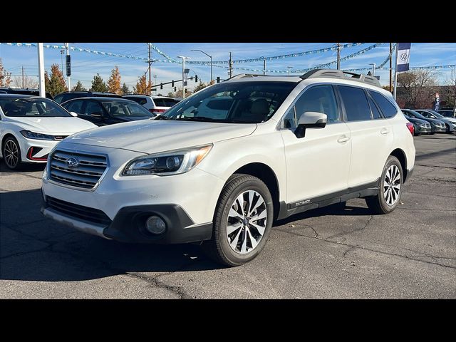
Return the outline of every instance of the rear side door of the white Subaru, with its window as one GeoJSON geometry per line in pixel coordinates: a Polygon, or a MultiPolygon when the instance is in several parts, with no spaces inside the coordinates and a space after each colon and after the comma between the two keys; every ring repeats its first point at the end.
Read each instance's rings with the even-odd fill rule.
{"type": "Polygon", "coordinates": [[[343,115],[351,131],[348,187],[368,185],[381,176],[393,146],[393,128],[363,88],[337,86],[343,115]]]}

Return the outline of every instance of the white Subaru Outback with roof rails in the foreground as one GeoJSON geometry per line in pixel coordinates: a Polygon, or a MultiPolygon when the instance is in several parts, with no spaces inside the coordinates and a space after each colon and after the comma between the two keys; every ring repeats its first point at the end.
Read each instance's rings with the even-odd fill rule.
{"type": "Polygon", "coordinates": [[[60,142],[43,173],[41,211],[122,242],[202,242],[236,266],[257,257],[275,219],[355,197],[393,211],[415,162],[410,133],[370,76],[239,75],[157,120],[60,142]]]}

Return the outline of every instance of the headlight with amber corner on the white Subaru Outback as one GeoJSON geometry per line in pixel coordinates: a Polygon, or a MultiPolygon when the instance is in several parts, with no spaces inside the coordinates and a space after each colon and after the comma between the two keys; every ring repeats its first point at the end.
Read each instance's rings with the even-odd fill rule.
{"type": "Polygon", "coordinates": [[[192,170],[212,148],[211,145],[192,147],[185,150],[144,155],[131,160],[123,175],[179,175],[192,170]]]}

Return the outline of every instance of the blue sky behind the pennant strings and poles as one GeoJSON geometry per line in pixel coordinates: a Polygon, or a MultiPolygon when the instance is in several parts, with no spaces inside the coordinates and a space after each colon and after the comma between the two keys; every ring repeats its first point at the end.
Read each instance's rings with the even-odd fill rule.
{"type": "MultiPolygon", "coordinates": [[[[51,45],[63,45],[63,43],[47,43],[51,45]]],[[[364,43],[360,46],[343,48],[341,50],[341,58],[356,53],[374,43],[364,43]]],[[[154,43],[157,48],[166,53],[172,58],[177,56],[189,56],[191,61],[209,61],[209,58],[200,52],[192,52],[190,50],[199,49],[212,55],[213,61],[227,61],[229,52],[232,52],[233,60],[259,58],[261,56],[278,56],[288,53],[299,53],[310,51],[318,48],[326,48],[333,44],[331,43],[154,43]]],[[[146,43],[74,43],[71,46],[78,48],[87,48],[95,51],[104,51],[109,53],[120,53],[129,56],[140,56],[147,58],[146,43]]],[[[341,68],[368,68],[369,63],[382,63],[388,56],[389,43],[384,43],[377,48],[373,48],[360,56],[353,57],[348,61],[341,63],[341,68]]],[[[26,74],[31,77],[38,76],[37,52],[36,48],[26,48],[19,46],[7,46],[0,44],[0,58],[4,63],[6,71],[13,75],[20,75],[21,67],[24,66],[26,74]]],[[[152,51],[152,59],[165,59],[157,52],[152,51]]],[[[58,63],[61,66],[61,53],[55,49],[44,50],[45,68],[49,70],[51,64],[58,63]]],[[[326,53],[312,54],[309,56],[301,56],[295,58],[284,58],[274,61],[266,61],[266,69],[270,70],[287,70],[287,66],[292,66],[291,70],[311,68],[321,63],[328,63],[336,60],[336,51],[328,51],[326,53]]],[[[138,77],[143,75],[147,70],[145,61],[133,60],[130,58],[120,58],[113,56],[100,56],[86,52],[71,52],[72,71],[71,71],[71,86],[74,86],[77,81],[81,81],[86,88],[90,88],[90,83],[96,73],[100,73],[104,81],[108,81],[110,71],[114,66],[118,66],[122,76],[122,82],[125,82],[130,88],[133,88],[138,77]]],[[[65,59],[63,58],[63,63],[65,59]]],[[[394,63],[394,62],[393,62],[394,63]]],[[[410,66],[440,66],[456,64],[456,43],[412,43],[410,52],[410,66]]],[[[190,68],[190,75],[198,77],[203,82],[210,80],[209,66],[186,65],[190,68]]],[[[227,66],[226,64],[224,66],[227,66]]],[[[254,63],[239,63],[234,64],[243,68],[262,69],[263,62],[254,63]]],[[[389,63],[385,65],[388,67],[389,63]]],[[[331,65],[331,68],[336,68],[336,65],[331,65]]],[[[451,69],[439,69],[437,79],[440,83],[444,83],[449,76],[451,69]]],[[[249,71],[241,71],[234,69],[234,75],[249,71]]],[[[367,71],[363,71],[367,73],[367,71]]],[[[276,73],[274,73],[277,75],[276,73]]],[[[376,75],[380,75],[380,83],[387,85],[389,83],[388,70],[377,70],[376,75]]],[[[169,82],[172,79],[177,80],[182,78],[182,66],[177,63],[153,63],[152,76],[156,75],[157,83],[169,82]]],[[[226,68],[213,68],[214,78],[227,78],[226,68]]],[[[152,78],[152,81],[155,79],[152,78]]],[[[189,88],[195,86],[194,81],[189,81],[189,88]]],[[[171,91],[170,86],[164,86],[163,90],[158,90],[159,93],[167,94],[171,91]]]]}

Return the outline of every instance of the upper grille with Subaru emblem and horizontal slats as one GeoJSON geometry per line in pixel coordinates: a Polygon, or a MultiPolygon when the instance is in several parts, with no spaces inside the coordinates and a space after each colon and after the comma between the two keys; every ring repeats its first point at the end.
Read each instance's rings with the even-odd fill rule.
{"type": "Polygon", "coordinates": [[[55,150],[51,155],[49,177],[55,182],[92,189],[108,167],[104,155],[55,150]]]}

